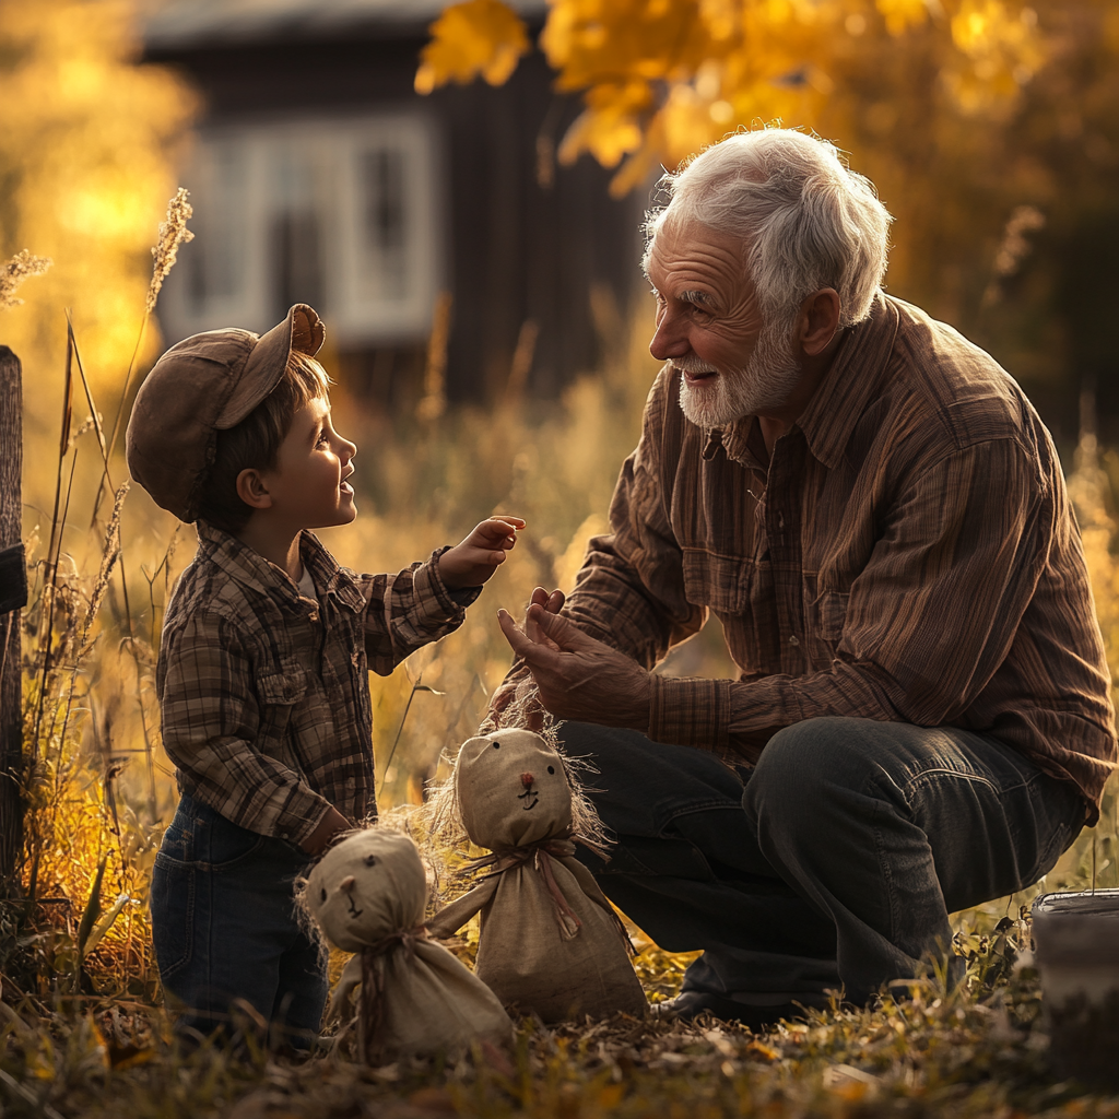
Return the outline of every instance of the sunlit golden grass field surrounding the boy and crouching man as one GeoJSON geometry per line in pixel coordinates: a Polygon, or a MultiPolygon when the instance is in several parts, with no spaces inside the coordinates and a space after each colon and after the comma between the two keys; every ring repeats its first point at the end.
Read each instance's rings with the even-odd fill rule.
{"type": "MultiPolygon", "coordinates": [[[[509,665],[497,608],[519,609],[538,583],[572,586],[587,536],[604,526],[620,461],[637,438],[656,372],[645,350],[648,330],[647,316],[639,313],[629,344],[552,403],[499,402],[433,421],[389,420],[376,402],[336,386],[338,425],[359,446],[359,517],[323,534],[344,563],[396,570],[459,539],[490,513],[516,513],[528,521],[458,633],[392,676],[370,677],[383,810],[405,806],[406,812],[420,803],[443,752],[478,725],[487,695],[509,665]]],[[[981,1111],[1013,1102],[1015,1093],[1033,1109],[1050,1099],[1036,978],[1014,967],[1015,950],[1028,944],[1022,918],[1035,891],[957,914],[956,950],[970,960],[963,991],[943,990],[933,969],[910,991],[910,1002],[876,1012],[814,1012],[807,1024],[765,1038],[711,1025],[622,1021],[545,1031],[526,1023],[509,1068],[482,1062],[476,1070],[467,1062],[442,1073],[419,1064],[363,1073],[344,1060],[321,1073],[270,1064],[263,1053],[244,1064],[213,1052],[179,1068],[173,1090],[161,1088],[178,1066],[159,1009],[147,896],[177,792],[159,741],[153,674],[162,612],[195,537],[141,489],[128,489],[119,453],[103,454],[115,416],[102,412],[83,380],[81,339],[75,341],[62,421],[69,438],[31,432],[26,443],[26,857],[22,899],[0,903],[7,1014],[0,1029],[8,1040],[0,1068],[17,1084],[30,1085],[11,1089],[17,1106],[49,1098],[63,1113],[67,1101],[83,1113],[115,1113],[104,1094],[112,1080],[129,1085],[138,1115],[220,1110],[250,1089],[258,1110],[246,1115],[321,1115],[314,1102],[321,1075],[337,1097],[338,1113],[357,1113],[346,1108],[359,1099],[402,1098],[421,1110],[572,1116],[626,1112],[627,1100],[634,1113],[676,1115],[685,1103],[704,1101],[714,1115],[753,1101],[783,1115],[812,1101],[843,1111],[893,1098],[929,1104],[943,1096],[946,1102],[967,1099],[981,1111]],[[1005,1083],[988,1083],[1000,1063],[1005,1083]],[[278,1100],[283,1109],[272,1110],[278,1100]]],[[[26,384],[37,403],[53,397],[62,416],[65,366],[28,370],[26,384]]],[[[1115,473],[1119,458],[1101,455],[1090,438],[1075,458],[1069,483],[1115,667],[1119,565],[1107,468],[1115,473]]],[[[717,622],[661,670],[730,671],[717,622]]],[[[1109,791],[1100,825],[1080,836],[1043,886],[1119,884],[1116,839],[1109,791]]],[[[670,996],[692,957],[665,953],[640,930],[633,933],[651,997],[670,996]]],[[[458,946],[467,958],[471,939],[458,946]]]]}

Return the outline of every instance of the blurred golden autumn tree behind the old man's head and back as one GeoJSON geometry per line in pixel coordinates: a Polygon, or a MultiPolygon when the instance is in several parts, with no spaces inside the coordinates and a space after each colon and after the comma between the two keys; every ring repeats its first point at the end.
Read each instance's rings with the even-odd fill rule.
{"type": "MultiPolygon", "coordinates": [[[[525,28],[500,8],[448,8],[417,90],[505,81],[525,28]]],[[[618,167],[617,192],[735,128],[834,139],[897,218],[891,290],[990,348],[1066,441],[1098,384],[1119,440],[1116,0],[552,0],[539,47],[584,104],[560,161],[618,167]]]]}

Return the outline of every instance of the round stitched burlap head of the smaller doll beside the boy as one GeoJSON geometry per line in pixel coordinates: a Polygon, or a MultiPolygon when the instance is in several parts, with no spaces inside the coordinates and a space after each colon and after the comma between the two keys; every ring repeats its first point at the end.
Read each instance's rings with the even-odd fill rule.
{"type": "Polygon", "coordinates": [[[354,952],[420,924],[427,884],[407,836],[370,828],[327,852],[308,877],[304,899],[327,940],[354,952]]]}

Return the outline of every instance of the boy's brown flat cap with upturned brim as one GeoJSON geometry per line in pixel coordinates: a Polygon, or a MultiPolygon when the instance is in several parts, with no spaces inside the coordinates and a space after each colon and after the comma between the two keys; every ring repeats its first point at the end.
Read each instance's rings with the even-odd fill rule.
{"type": "Polygon", "coordinates": [[[132,478],[158,506],[192,521],[217,432],[235,427],[280,384],[293,349],[318,354],[325,337],[318,314],[297,303],[263,335],[231,327],[176,342],[132,405],[124,438],[132,478]]]}

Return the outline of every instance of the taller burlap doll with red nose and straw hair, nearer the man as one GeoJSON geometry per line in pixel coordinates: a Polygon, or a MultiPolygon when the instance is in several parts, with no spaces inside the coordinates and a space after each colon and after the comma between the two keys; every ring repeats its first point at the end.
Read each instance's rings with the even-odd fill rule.
{"type": "Polygon", "coordinates": [[[560,753],[532,731],[470,739],[435,793],[436,830],[491,855],[485,877],[429,922],[433,937],[481,914],[474,974],[506,1006],[546,1023],[647,1008],[624,927],[575,841],[601,850],[602,826],[560,753]]]}

